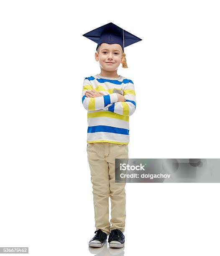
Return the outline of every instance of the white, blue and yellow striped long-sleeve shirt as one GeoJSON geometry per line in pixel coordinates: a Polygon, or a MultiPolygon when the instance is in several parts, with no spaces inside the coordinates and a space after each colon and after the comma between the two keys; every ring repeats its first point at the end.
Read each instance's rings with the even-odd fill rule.
{"type": "Polygon", "coordinates": [[[82,88],[82,104],[87,113],[87,143],[129,143],[129,116],[136,109],[134,84],[130,79],[86,77],[82,88]],[[103,96],[86,97],[87,90],[96,90],[103,96]],[[124,95],[125,102],[118,102],[116,93],[124,95]]]}

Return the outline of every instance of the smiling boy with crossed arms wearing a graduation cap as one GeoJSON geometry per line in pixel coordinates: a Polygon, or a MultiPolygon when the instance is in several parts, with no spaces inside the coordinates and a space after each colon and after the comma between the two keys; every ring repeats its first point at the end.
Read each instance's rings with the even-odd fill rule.
{"type": "Polygon", "coordinates": [[[117,70],[120,63],[127,67],[124,47],[141,39],[113,23],[83,36],[97,43],[95,59],[101,69],[100,74],[84,79],[82,89],[82,104],[88,110],[87,156],[96,227],[89,246],[103,246],[109,235],[110,247],[123,247],[126,183],[115,182],[115,158],[128,158],[129,116],[136,109],[136,98],[133,82],[117,70]]]}

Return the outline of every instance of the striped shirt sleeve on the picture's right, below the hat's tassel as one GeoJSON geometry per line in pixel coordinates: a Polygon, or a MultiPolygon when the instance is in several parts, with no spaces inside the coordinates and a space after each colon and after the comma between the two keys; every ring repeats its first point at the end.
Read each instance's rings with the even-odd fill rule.
{"type": "Polygon", "coordinates": [[[104,107],[104,110],[109,110],[111,112],[117,113],[119,115],[130,116],[136,110],[136,97],[134,84],[130,80],[123,90],[125,102],[114,102],[113,104],[104,107]]]}

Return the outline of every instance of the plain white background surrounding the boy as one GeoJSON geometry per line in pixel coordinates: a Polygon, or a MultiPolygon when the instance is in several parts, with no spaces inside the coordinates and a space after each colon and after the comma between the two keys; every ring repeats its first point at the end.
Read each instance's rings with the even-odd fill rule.
{"type": "MultiPolygon", "coordinates": [[[[118,69],[136,90],[129,157],[220,158],[218,4],[0,2],[0,246],[93,255],[81,93],[100,67],[82,34],[106,23],[143,39],[118,69]]],[[[219,255],[219,192],[218,183],[127,184],[118,255],[219,255]]]]}

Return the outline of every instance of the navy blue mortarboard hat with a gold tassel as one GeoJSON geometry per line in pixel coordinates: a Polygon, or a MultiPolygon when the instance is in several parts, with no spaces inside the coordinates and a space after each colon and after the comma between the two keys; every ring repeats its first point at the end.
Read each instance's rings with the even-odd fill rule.
{"type": "MultiPolygon", "coordinates": [[[[123,51],[126,46],[131,44],[135,44],[141,41],[141,38],[134,36],[133,34],[125,31],[123,28],[120,28],[113,24],[112,22],[96,28],[88,33],[85,33],[83,36],[89,38],[90,40],[97,43],[96,51],[100,44],[107,43],[107,44],[120,44],[123,51]]],[[[125,54],[122,54],[122,67],[127,68],[127,63],[125,59],[125,54]]]]}

